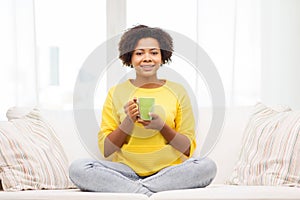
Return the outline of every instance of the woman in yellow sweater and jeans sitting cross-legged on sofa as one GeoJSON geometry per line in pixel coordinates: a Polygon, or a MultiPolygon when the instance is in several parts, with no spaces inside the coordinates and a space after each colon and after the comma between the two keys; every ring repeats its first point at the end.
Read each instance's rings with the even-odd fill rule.
{"type": "Polygon", "coordinates": [[[160,28],[139,25],[119,43],[120,59],[135,69],[135,79],[109,90],[103,106],[98,144],[104,160],[78,160],[70,178],[82,190],[154,192],[206,187],[216,174],[208,158],[192,158],[196,148],[194,116],[186,90],[158,79],[171,61],[173,40],[160,28]],[[140,97],[155,99],[151,120],[142,120],[140,97]]]}

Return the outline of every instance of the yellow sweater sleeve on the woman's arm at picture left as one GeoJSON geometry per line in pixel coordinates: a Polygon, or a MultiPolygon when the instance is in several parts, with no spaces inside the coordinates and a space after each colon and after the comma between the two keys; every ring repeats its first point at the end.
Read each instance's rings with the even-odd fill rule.
{"type": "Polygon", "coordinates": [[[105,138],[117,127],[119,126],[120,122],[117,117],[117,112],[113,104],[113,91],[114,89],[110,89],[106,100],[103,105],[102,110],[102,121],[101,121],[101,128],[98,132],[98,147],[101,153],[104,155],[104,140],[105,138]]]}

